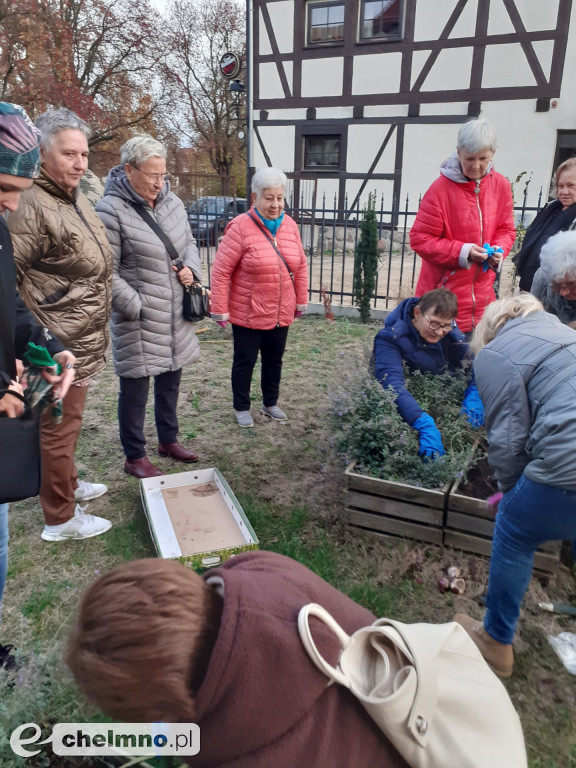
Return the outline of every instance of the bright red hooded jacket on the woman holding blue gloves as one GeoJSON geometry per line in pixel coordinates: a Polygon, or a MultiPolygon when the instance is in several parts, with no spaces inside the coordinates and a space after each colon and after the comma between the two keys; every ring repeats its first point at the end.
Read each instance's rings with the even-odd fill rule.
{"type": "MultiPolygon", "coordinates": [[[[454,156],[453,156],[454,157],[454,156]]],[[[467,245],[499,245],[506,257],[516,238],[510,182],[489,171],[479,182],[467,179],[450,158],[443,175],[424,195],[410,231],[410,246],[422,258],[416,295],[446,288],[458,297],[457,323],[471,331],[494,301],[495,273],[467,265],[467,245]]]]}

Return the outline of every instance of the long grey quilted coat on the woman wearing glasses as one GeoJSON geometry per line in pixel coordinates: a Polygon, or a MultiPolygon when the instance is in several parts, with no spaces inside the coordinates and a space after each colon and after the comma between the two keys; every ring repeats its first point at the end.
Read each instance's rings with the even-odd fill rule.
{"type": "Polygon", "coordinates": [[[166,183],[154,209],[130,186],[124,169],[110,171],[96,205],[114,254],[112,349],[119,376],[129,379],[176,371],[200,356],[191,323],[182,317],[182,285],[160,238],[130,200],[144,205],[186,266],[201,278],[200,257],[180,198],[166,183]]]}

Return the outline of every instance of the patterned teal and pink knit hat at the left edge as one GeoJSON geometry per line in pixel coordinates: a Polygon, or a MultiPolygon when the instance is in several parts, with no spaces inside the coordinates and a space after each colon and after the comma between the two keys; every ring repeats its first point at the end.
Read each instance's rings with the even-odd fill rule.
{"type": "Polygon", "coordinates": [[[0,101],[0,173],[35,179],[40,173],[40,131],[17,104],[0,101]]]}

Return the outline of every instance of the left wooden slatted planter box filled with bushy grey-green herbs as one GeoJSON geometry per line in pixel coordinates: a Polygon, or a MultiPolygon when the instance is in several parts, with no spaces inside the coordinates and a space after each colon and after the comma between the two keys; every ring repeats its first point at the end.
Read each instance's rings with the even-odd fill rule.
{"type": "Polygon", "coordinates": [[[478,430],[460,414],[464,374],[406,373],[409,391],[435,420],[446,455],[418,456],[418,435],[400,416],[396,395],[356,361],[339,380],[332,402],[334,445],[345,471],[346,518],[376,535],[443,543],[449,487],[470,465],[478,430]]]}

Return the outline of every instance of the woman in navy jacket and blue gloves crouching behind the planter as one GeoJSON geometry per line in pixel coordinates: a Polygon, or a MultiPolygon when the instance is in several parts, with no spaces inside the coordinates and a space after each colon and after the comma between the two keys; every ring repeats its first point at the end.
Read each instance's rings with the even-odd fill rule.
{"type": "MultiPolygon", "coordinates": [[[[398,411],[418,431],[418,453],[426,459],[435,459],[446,451],[434,419],[408,392],[402,363],[411,373],[446,373],[461,368],[469,359],[468,344],[456,325],[457,314],[455,294],[437,288],[421,298],[404,299],[388,315],[374,339],[374,374],[383,387],[396,392],[398,411]]],[[[479,427],[484,424],[484,406],[473,373],[471,376],[462,412],[472,426],[479,427]]]]}

